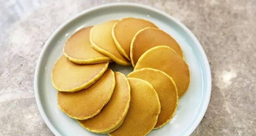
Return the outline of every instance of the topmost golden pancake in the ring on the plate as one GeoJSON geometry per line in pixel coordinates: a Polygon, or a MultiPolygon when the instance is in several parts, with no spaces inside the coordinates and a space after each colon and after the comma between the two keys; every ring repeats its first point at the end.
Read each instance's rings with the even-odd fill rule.
{"type": "Polygon", "coordinates": [[[157,28],[157,26],[152,22],[140,18],[128,17],[115,23],[112,29],[112,37],[117,49],[128,60],[130,60],[130,46],[132,38],[139,30],[147,27],[157,28]]]}

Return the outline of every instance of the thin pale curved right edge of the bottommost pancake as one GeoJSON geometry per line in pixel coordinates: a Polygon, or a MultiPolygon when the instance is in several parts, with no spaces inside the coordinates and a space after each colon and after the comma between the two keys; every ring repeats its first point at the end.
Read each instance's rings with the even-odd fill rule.
{"type": "MultiPolygon", "coordinates": [[[[157,118],[158,118],[158,116],[159,116],[159,114],[160,114],[160,112],[161,112],[161,104],[160,104],[160,101],[159,101],[159,97],[158,97],[158,94],[157,94],[157,92],[156,92],[156,90],[153,88],[153,86],[152,86],[152,84],[150,84],[149,82],[147,82],[147,81],[145,81],[145,80],[142,80],[142,79],[138,79],[138,78],[127,78],[127,79],[137,79],[137,80],[141,80],[141,81],[143,81],[143,82],[145,82],[147,85],[149,85],[150,86],[150,88],[153,90],[153,92],[154,92],[154,94],[156,95],[156,97],[157,97],[157,101],[158,101],[158,105],[159,105],[159,107],[158,107],[158,114],[156,115],[156,116],[154,116],[156,119],[155,119],[155,122],[154,122],[154,125],[152,126],[152,128],[151,128],[151,130],[150,131],[148,131],[148,132],[146,132],[143,136],[145,136],[145,135],[147,135],[148,133],[150,133],[153,129],[154,129],[154,127],[155,127],[155,125],[156,125],[156,122],[157,122],[157,118]]],[[[112,136],[110,133],[108,133],[108,135],[109,136],[112,136]]]]}

